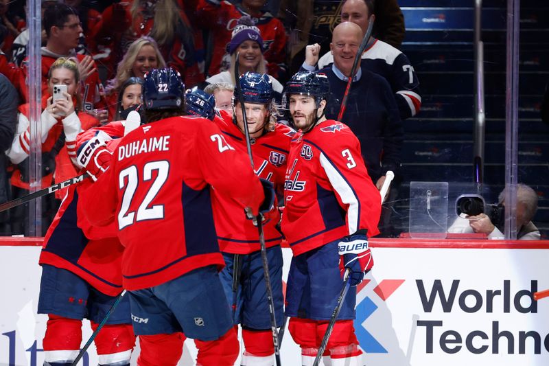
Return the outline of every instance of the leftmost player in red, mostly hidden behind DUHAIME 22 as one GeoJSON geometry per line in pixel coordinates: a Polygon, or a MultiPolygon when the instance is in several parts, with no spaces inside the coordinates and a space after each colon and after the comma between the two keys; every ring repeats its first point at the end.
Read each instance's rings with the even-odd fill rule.
{"type": "MultiPolygon", "coordinates": [[[[105,126],[104,128],[107,128],[105,126]]],[[[111,122],[105,148],[113,151],[124,133],[121,122],[111,122]]],[[[91,135],[91,130],[82,135],[91,135]]],[[[85,141],[85,139],[84,139],[85,141]]],[[[76,146],[82,139],[76,141],[76,146]]],[[[83,159],[82,151],[78,159],[83,159]]],[[[110,159],[110,154],[101,159],[110,159]]],[[[114,222],[94,227],[84,217],[87,207],[79,201],[91,181],[69,187],[40,253],[42,266],[38,313],[48,314],[43,340],[47,366],[73,363],[82,343],[82,319],[89,319],[95,330],[122,290],[121,256],[124,247],[117,239],[114,222]]],[[[95,337],[100,365],[129,366],[135,335],[130,317],[130,301],[123,297],[95,337]]]]}

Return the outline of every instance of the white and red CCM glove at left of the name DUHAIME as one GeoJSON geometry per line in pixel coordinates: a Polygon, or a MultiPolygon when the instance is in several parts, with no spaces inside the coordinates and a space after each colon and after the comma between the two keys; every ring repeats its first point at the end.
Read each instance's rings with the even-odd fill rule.
{"type": "Polygon", "coordinates": [[[97,181],[101,174],[106,172],[113,153],[106,145],[106,140],[102,135],[96,135],[86,141],[78,152],[78,164],[86,169],[93,181],[97,181]]]}

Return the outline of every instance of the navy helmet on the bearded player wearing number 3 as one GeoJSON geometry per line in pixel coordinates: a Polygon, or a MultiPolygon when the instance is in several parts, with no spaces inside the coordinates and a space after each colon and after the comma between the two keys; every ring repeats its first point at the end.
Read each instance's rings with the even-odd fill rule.
{"type": "Polygon", "coordinates": [[[328,102],[330,95],[330,83],[324,73],[312,71],[299,71],[286,83],[284,93],[282,94],[282,106],[289,110],[289,97],[292,94],[308,95],[314,98],[316,108],[320,106],[322,100],[328,102]]]}

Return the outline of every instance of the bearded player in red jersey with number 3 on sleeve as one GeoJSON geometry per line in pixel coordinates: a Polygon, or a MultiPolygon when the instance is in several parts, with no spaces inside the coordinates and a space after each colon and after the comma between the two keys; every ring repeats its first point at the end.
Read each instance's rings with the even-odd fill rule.
{"type": "MultiPolygon", "coordinates": [[[[294,254],[285,313],[305,366],[312,365],[336,307],[344,268],[356,286],[373,266],[368,238],[379,232],[381,210],[357,137],[324,115],[328,99],[327,77],[312,72],[296,73],[283,95],[301,132],[292,140],[285,176],[282,231],[294,254]]],[[[327,343],[332,366],[362,365],[353,328],[355,302],[351,290],[327,343]]]]}

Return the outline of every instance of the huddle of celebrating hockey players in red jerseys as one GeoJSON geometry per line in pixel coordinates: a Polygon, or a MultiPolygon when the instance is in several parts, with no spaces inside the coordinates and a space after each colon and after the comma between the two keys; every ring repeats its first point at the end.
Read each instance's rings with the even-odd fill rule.
{"type": "Polygon", "coordinates": [[[326,118],[323,73],[285,85],[295,130],[277,122],[268,76],[236,82],[229,113],[213,95],[185,93],[176,71],[152,69],[138,108],[146,123],[76,137],[92,179],[69,187],[40,255],[45,365],[77,360],[84,318],[100,329],[100,365],[129,365],[136,336],[138,365],[176,365],[187,337],[197,365],[234,365],[239,324],[240,364],[279,365],[285,319],[301,365],[364,365],[355,291],[342,293],[373,266],[368,239],[379,232],[360,142],[326,118]],[[285,297],[283,240],[293,253],[285,297]]]}

